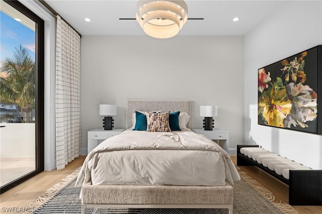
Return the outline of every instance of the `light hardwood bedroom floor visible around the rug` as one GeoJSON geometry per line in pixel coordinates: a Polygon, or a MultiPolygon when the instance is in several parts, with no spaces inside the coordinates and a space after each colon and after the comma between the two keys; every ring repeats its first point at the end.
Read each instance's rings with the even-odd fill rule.
{"type": "MultiPolygon", "coordinates": [[[[60,182],[64,177],[73,172],[84,162],[85,156],[76,158],[69,163],[63,170],[53,170],[50,172],[42,172],[26,182],[14,187],[13,189],[1,194],[1,213],[3,207],[28,207],[29,203],[35,202],[37,197],[43,194],[54,184],[60,182]]],[[[236,163],[236,157],[232,156],[232,160],[236,163]]],[[[267,174],[261,169],[254,166],[240,167],[250,176],[263,184],[267,189],[275,195],[275,202],[288,203],[288,186],[277,180],[273,176],[267,174]]],[[[300,214],[317,214],[322,213],[322,206],[294,206],[300,214]]],[[[11,212],[15,213],[15,212],[11,212]]],[[[21,213],[21,212],[16,212],[21,213]]]]}

